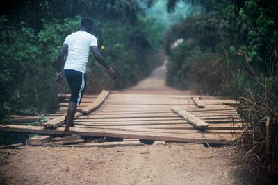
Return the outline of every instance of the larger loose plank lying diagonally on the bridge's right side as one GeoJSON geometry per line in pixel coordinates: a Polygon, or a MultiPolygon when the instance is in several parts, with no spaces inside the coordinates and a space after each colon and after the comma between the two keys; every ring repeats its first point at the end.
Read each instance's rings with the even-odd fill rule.
{"type": "Polygon", "coordinates": [[[195,127],[199,128],[206,128],[208,127],[208,123],[202,121],[200,118],[193,116],[189,112],[179,108],[179,107],[172,107],[173,112],[177,113],[179,116],[183,117],[185,120],[189,121],[189,123],[193,124],[195,127]]]}

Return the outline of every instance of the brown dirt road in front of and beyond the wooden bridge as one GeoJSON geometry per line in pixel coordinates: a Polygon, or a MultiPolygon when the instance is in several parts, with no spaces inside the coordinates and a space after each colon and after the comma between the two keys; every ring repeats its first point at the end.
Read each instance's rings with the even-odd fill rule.
{"type": "MultiPolygon", "coordinates": [[[[165,65],[126,91],[190,94],[165,86],[165,65]]],[[[238,184],[233,148],[197,143],[0,150],[0,184],[238,184]]]]}

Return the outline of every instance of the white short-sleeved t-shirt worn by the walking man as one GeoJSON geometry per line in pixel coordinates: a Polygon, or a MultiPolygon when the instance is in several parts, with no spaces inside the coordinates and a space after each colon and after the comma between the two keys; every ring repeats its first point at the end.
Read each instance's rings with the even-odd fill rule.
{"type": "Polygon", "coordinates": [[[65,38],[68,55],[64,69],[74,69],[86,73],[90,46],[97,46],[97,38],[85,31],[76,31],[65,38]]]}

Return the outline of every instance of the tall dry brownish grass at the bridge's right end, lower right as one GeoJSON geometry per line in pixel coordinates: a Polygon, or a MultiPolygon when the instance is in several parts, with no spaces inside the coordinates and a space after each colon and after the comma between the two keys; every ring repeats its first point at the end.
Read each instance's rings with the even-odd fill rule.
{"type": "Polygon", "coordinates": [[[250,91],[236,109],[245,121],[237,151],[245,183],[278,182],[278,78],[258,78],[261,96],[250,91]]]}

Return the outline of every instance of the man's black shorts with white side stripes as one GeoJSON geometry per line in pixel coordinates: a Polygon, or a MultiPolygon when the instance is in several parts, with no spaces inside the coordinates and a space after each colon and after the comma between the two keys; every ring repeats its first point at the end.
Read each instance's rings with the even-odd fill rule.
{"type": "Polygon", "coordinates": [[[72,92],[70,101],[80,104],[83,93],[86,89],[86,74],[73,69],[65,69],[64,73],[72,92]]]}

